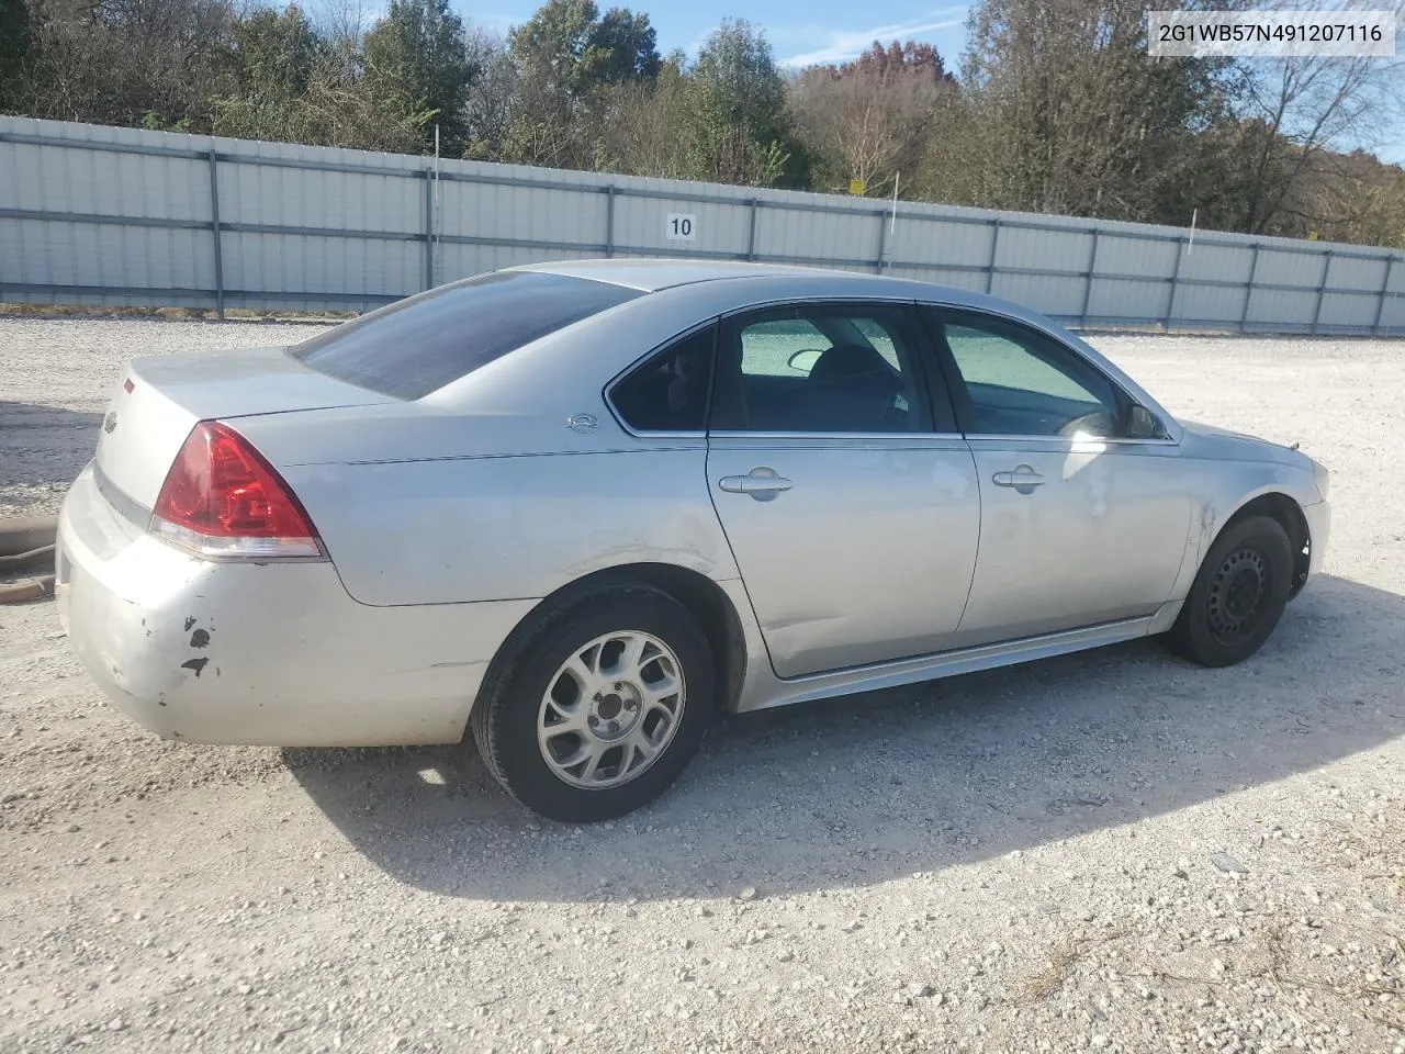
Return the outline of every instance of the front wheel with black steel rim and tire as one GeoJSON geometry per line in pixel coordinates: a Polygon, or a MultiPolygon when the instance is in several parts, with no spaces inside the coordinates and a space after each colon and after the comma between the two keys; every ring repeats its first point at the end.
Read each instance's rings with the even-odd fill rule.
{"type": "Polygon", "coordinates": [[[1232,666],[1273,634],[1293,589],[1293,544],[1267,516],[1228,527],[1205,555],[1176,625],[1172,648],[1201,666],[1232,666]]]}

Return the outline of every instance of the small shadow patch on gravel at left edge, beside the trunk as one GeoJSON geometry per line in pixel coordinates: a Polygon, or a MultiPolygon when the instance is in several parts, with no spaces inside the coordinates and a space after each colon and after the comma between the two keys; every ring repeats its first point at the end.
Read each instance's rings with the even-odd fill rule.
{"type": "Polygon", "coordinates": [[[0,495],[6,488],[67,489],[93,457],[101,413],[0,399],[0,495]]]}

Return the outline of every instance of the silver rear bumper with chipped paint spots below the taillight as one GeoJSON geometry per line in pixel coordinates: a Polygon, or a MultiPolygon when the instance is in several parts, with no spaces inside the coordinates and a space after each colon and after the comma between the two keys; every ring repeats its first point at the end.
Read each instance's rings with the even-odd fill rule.
{"type": "Polygon", "coordinates": [[[59,617],[103,690],[153,732],[202,743],[457,742],[535,604],[368,607],[326,562],[198,559],[119,516],[91,467],[65,499],[58,565],[59,617]]]}

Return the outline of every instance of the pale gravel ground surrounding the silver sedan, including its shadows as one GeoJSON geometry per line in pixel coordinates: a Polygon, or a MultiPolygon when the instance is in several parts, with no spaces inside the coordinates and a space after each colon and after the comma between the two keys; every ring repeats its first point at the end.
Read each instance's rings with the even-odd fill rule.
{"type": "MultiPolygon", "coordinates": [[[[0,513],[55,507],[128,356],[301,332],[0,322],[0,513]]],[[[1094,343],[1335,474],[1242,666],[731,720],[572,829],[468,749],[163,743],[0,609],[0,1050],[1405,1051],[1405,344],[1094,343]]]]}

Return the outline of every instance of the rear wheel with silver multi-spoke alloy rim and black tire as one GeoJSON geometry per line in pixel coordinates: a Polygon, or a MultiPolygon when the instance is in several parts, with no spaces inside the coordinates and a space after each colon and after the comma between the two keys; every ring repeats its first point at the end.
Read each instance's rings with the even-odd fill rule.
{"type": "Polygon", "coordinates": [[[617,586],[545,616],[471,724],[517,801],[548,819],[596,822],[679,777],[715,691],[712,648],[691,611],[656,589],[617,586]]]}

